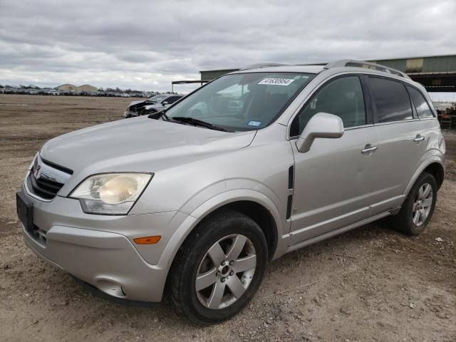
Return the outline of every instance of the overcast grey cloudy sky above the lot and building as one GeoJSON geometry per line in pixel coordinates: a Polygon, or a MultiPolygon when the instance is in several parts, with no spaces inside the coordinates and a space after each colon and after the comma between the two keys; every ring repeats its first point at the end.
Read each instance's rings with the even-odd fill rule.
{"type": "Polygon", "coordinates": [[[455,0],[0,0],[0,84],[170,90],[204,69],[449,54],[455,19],[455,0]]]}

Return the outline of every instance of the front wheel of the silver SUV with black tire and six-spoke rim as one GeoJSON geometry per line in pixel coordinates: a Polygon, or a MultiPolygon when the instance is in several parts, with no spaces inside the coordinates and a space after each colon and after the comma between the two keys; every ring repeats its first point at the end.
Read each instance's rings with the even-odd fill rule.
{"type": "Polygon", "coordinates": [[[226,210],[204,219],[180,248],[170,271],[170,296],[199,325],[239,313],[259,289],[268,259],[256,222],[226,210]]]}

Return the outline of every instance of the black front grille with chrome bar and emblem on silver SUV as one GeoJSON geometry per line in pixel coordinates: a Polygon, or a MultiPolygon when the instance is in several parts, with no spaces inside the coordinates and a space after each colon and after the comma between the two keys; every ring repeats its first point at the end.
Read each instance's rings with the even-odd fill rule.
{"type": "Polygon", "coordinates": [[[73,171],[41,159],[38,155],[27,177],[28,191],[42,199],[53,199],[73,171]]]}

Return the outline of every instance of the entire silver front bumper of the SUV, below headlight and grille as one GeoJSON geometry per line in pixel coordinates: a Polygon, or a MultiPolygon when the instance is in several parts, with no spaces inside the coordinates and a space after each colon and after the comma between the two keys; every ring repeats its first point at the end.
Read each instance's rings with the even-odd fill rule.
{"type": "MultiPolygon", "coordinates": [[[[23,190],[25,192],[25,190],[23,190]]],[[[23,227],[28,247],[54,266],[106,294],[135,301],[160,301],[170,261],[165,249],[187,219],[180,212],[106,216],[85,214],[79,202],[55,197],[33,202],[33,224],[23,227]],[[157,244],[137,245],[136,237],[161,235],[157,244]]]]}

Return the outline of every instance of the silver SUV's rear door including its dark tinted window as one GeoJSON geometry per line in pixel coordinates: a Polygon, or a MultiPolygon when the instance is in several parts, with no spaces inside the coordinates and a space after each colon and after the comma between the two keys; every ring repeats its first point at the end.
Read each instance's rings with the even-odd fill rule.
{"type": "Polygon", "coordinates": [[[401,81],[368,76],[373,120],[380,140],[378,168],[372,175],[375,204],[371,216],[399,207],[405,187],[426,149],[423,122],[417,117],[408,89],[401,81]]]}

